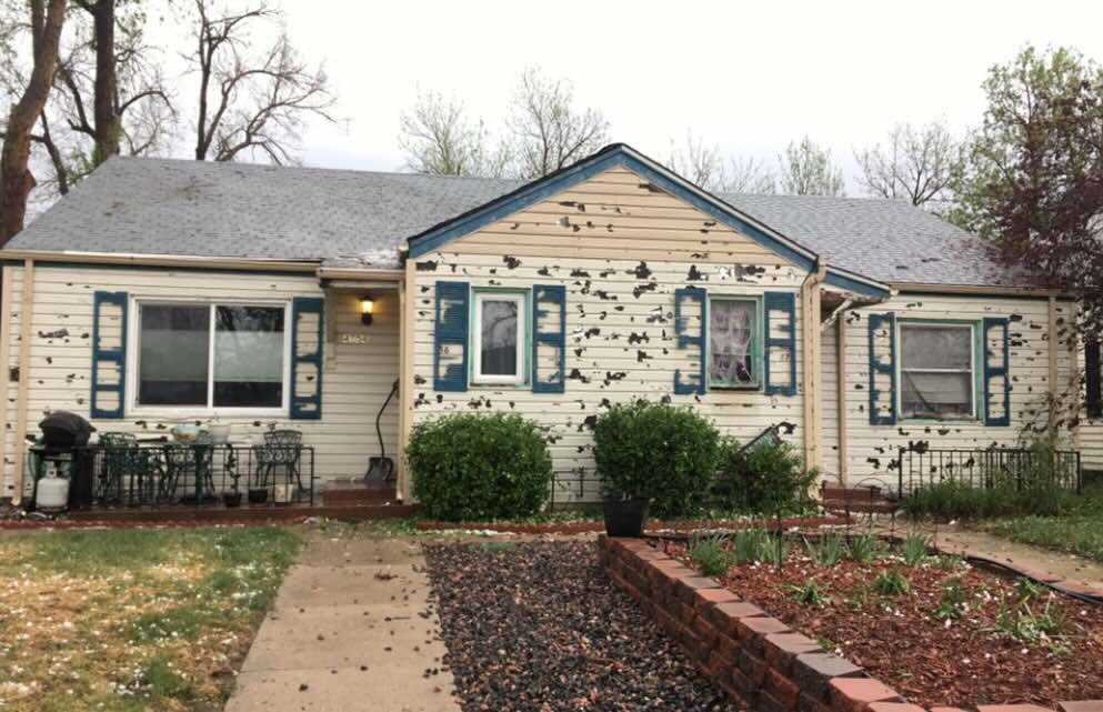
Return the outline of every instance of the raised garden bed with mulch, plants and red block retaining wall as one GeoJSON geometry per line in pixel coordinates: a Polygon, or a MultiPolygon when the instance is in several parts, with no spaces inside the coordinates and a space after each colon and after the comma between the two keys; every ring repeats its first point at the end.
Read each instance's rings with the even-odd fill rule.
{"type": "Polygon", "coordinates": [[[602,550],[618,584],[755,710],[1103,699],[1103,608],[931,556],[919,538],[895,552],[790,540],[780,568],[762,562],[774,543],[759,532],[602,550]]]}

